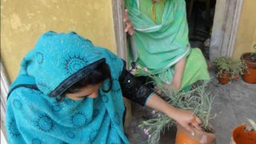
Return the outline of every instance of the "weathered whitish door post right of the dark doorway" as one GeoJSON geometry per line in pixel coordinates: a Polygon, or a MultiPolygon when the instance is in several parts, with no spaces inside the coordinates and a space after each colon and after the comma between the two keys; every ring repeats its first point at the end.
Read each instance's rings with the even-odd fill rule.
{"type": "Polygon", "coordinates": [[[210,60],[232,57],[238,33],[243,0],[217,0],[210,42],[210,60]]]}

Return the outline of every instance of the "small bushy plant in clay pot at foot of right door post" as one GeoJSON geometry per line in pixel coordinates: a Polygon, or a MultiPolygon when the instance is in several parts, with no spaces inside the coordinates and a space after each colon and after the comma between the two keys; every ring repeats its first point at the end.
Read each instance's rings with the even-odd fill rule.
{"type": "Polygon", "coordinates": [[[226,84],[238,78],[246,70],[246,65],[241,60],[233,60],[229,57],[214,58],[213,65],[217,70],[218,82],[226,84]]]}

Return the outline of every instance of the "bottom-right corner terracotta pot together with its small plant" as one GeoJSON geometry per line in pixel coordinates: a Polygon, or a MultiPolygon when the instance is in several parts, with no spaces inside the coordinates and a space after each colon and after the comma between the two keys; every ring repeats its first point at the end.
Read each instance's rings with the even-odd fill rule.
{"type": "Polygon", "coordinates": [[[256,143],[256,124],[248,119],[249,125],[238,126],[233,130],[231,144],[254,144],[256,143]]]}

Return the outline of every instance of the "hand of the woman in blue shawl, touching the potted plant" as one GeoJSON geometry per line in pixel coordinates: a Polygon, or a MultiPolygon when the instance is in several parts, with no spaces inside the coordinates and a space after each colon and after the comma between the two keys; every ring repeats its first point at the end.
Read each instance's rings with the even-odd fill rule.
{"type": "Polygon", "coordinates": [[[192,135],[194,135],[194,130],[191,129],[191,126],[201,130],[199,126],[201,124],[201,120],[190,110],[177,109],[177,113],[173,116],[173,118],[176,122],[178,122],[179,125],[190,131],[192,135]]]}

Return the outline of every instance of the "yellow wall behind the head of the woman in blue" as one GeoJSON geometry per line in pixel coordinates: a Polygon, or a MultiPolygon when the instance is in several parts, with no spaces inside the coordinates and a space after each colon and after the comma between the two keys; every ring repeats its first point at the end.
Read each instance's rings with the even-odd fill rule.
{"type": "Polygon", "coordinates": [[[111,0],[1,0],[1,59],[10,80],[19,63],[47,30],[76,31],[114,51],[111,0]]]}

